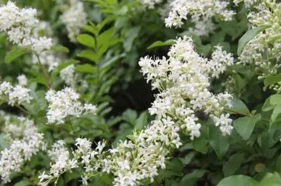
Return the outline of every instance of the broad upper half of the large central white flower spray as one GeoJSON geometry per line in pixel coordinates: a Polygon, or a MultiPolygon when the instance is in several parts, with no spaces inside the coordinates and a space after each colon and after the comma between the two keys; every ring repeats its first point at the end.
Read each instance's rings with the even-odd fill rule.
{"type": "MultiPolygon", "coordinates": [[[[168,56],[169,59],[140,59],[139,65],[147,75],[147,81],[152,82],[153,89],[160,91],[149,112],[158,118],[182,118],[177,121],[178,126],[190,134],[191,139],[199,137],[201,125],[197,123],[195,112],[203,111],[212,117],[219,117],[225,108],[231,107],[230,94],[214,95],[208,91],[208,87],[209,76],[218,77],[227,66],[233,64],[233,58],[221,46],[217,46],[212,59],[208,61],[197,54],[192,39],[188,37],[178,38],[168,56]]],[[[230,124],[228,122],[227,125],[230,124]]],[[[231,131],[221,130],[223,134],[231,131]]]]}

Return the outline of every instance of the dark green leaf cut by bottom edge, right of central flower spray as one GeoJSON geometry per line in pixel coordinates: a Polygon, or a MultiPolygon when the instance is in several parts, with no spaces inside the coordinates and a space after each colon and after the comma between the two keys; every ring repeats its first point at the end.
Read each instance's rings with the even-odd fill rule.
{"type": "MultiPolygon", "coordinates": [[[[186,174],[182,177],[182,179],[179,182],[179,186],[194,186],[196,185],[196,181],[201,178],[202,176],[204,176],[204,174],[206,173],[206,170],[195,170],[190,174],[186,174]]],[[[240,185],[239,185],[240,186],[240,185]]]]}

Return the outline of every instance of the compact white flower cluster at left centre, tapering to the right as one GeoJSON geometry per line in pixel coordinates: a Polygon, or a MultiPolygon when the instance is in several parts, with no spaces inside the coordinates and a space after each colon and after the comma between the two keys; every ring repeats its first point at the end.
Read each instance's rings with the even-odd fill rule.
{"type": "Polygon", "coordinates": [[[97,112],[97,107],[92,104],[82,104],[80,95],[72,88],[66,87],[61,91],[49,90],[45,95],[48,101],[48,124],[63,124],[67,116],[80,117],[84,114],[97,112]]]}

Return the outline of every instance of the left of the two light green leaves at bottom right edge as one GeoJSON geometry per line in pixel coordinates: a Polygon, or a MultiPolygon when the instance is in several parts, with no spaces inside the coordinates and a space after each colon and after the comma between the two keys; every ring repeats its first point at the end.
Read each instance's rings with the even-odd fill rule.
{"type": "Polygon", "coordinates": [[[249,176],[229,176],[219,182],[217,186],[256,186],[257,181],[249,176]]]}

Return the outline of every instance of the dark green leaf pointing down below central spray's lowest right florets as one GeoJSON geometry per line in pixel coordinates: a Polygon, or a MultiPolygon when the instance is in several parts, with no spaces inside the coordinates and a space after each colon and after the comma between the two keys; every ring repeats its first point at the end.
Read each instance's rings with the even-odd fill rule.
{"type": "Polygon", "coordinates": [[[212,146],[218,156],[221,159],[229,148],[229,137],[223,136],[221,130],[213,122],[208,122],[209,127],[209,144],[212,146]]]}

